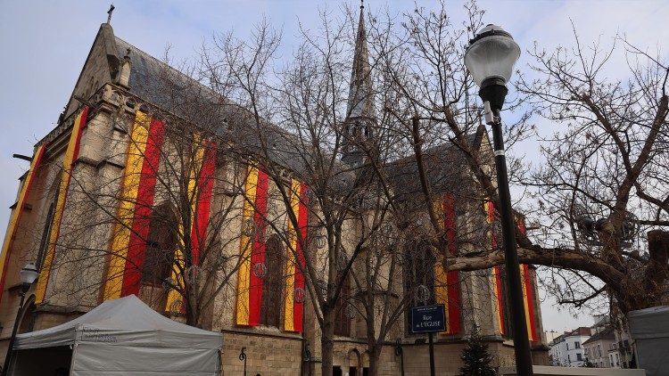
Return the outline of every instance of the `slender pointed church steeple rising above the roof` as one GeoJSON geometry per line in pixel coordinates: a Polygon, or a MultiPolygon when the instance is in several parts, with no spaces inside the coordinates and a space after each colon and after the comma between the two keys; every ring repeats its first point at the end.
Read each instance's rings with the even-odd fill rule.
{"type": "Polygon", "coordinates": [[[368,158],[368,152],[376,153],[374,92],[369,66],[367,32],[365,31],[365,6],[360,4],[358,34],[351,69],[351,86],[347,119],[344,123],[342,160],[359,166],[368,158]],[[365,151],[363,148],[368,149],[365,151]]]}

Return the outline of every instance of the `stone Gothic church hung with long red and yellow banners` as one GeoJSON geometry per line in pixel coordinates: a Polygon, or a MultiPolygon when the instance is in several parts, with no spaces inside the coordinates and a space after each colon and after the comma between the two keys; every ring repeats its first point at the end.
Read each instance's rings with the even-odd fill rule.
{"type": "MultiPolygon", "coordinates": [[[[359,16],[336,160],[342,172],[333,178],[331,198],[365,184],[356,174],[379,154],[362,9],[359,16]]],[[[438,374],[458,374],[475,331],[488,344],[493,366],[514,363],[504,266],[451,271],[429,241],[396,241],[389,249],[397,267],[379,267],[384,282],[366,290],[359,276],[368,272],[359,260],[378,243],[360,241],[367,236],[364,225],[346,225],[348,217],[343,223],[350,228],[340,233],[319,224],[326,208],[314,202],[325,199],[308,183],[304,151],[296,151],[290,132],[253,122],[251,111],[217,98],[116,37],[109,22],[101,25],[67,106],[36,143],[16,201],[7,203],[0,354],[17,319],[20,333],[38,331],[134,294],[174,320],[221,332],[224,375],[241,374],[244,364],[253,375],[318,375],[320,307],[335,291],[328,278],[339,278],[332,307],[335,375],[368,374],[370,336],[382,330],[386,308],[398,315],[383,328],[378,374],[429,374],[427,336],[410,331],[409,308],[423,304],[445,307],[446,331],[434,336],[438,374]],[[341,254],[331,257],[332,249],[341,254]],[[19,271],[27,263],[39,275],[18,310],[19,271]],[[367,294],[385,300],[365,307],[367,294]],[[371,331],[369,315],[377,315],[371,331]]],[[[491,155],[484,127],[468,137],[491,155]]],[[[459,152],[450,145],[425,151],[438,197],[432,210],[455,255],[474,247],[465,234],[484,248],[497,247],[494,208],[467,199],[473,183],[459,152]]],[[[427,209],[418,196],[416,160],[397,159],[384,168],[393,200],[415,210],[420,222],[427,209]]],[[[373,217],[374,210],[363,210],[368,196],[359,197],[359,212],[373,217]]],[[[392,234],[397,225],[382,230],[386,239],[400,237],[392,234]]],[[[548,364],[535,269],[523,265],[521,274],[534,363],[548,364]]]]}

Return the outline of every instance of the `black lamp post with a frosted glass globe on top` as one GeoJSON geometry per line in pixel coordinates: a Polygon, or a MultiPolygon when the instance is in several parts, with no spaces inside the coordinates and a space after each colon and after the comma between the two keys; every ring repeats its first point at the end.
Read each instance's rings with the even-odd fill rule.
{"type": "Polygon", "coordinates": [[[520,268],[516,251],[516,225],[511,209],[511,194],[508,190],[507,159],[504,155],[500,110],[507,96],[507,83],[513,74],[514,64],[520,56],[520,47],[513,37],[499,26],[488,25],[479,30],[469,42],[465,53],[465,65],[479,86],[479,96],[485,107],[485,121],[492,127],[495,165],[497,167],[497,187],[500,192],[500,213],[504,256],[507,266],[507,281],[511,298],[511,319],[513,323],[514,350],[516,352],[516,372],[518,375],[532,376],[532,354],[527,339],[523,289],[520,282],[520,268]]]}

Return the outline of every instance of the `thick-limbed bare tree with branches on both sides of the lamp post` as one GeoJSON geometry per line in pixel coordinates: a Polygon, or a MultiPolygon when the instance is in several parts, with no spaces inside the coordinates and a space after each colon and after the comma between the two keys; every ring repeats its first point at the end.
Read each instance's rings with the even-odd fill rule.
{"type": "MultiPolygon", "coordinates": [[[[443,140],[466,155],[481,194],[478,199],[489,197],[496,204],[490,165],[467,140],[480,120],[462,53],[467,37],[482,26],[483,15],[475,4],[467,4],[467,10],[467,31],[450,24],[443,4],[441,11],[417,9],[406,16],[405,32],[398,40],[410,43],[397,50],[399,58],[387,61],[404,104],[393,112],[406,134],[413,132],[421,181],[427,182],[429,175],[419,161],[425,143],[443,140]],[[408,113],[413,114],[413,127],[408,113]]],[[[565,301],[582,304],[608,291],[623,312],[659,304],[666,297],[667,249],[660,241],[665,232],[648,233],[648,248],[637,240],[643,239],[643,229],[667,225],[666,63],[620,38],[604,52],[598,45],[582,47],[576,38],[573,48],[537,50],[532,55],[537,61],[534,75],[520,78],[522,96],[509,110],[522,110],[517,106],[530,102],[529,110],[562,122],[566,130],[542,141],[547,162],[533,175],[525,175],[527,169],[516,160],[510,162],[512,179],[537,187],[540,199],[537,207],[523,205],[528,212],[536,210],[536,216],[527,234],[516,233],[520,261],[578,271],[586,290],[566,290],[565,301]],[[630,75],[607,78],[607,63],[621,45],[630,75]],[[653,243],[657,246],[650,246],[653,243]]],[[[521,112],[518,122],[506,127],[511,145],[532,135],[528,116],[521,112]]],[[[431,194],[429,188],[423,184],[425,197],[431,194]]],[[[503,261],[500,249],[467,257],[450,255],[442,245],[439,249],[450,270],[481,269],[503,261]]]]}

